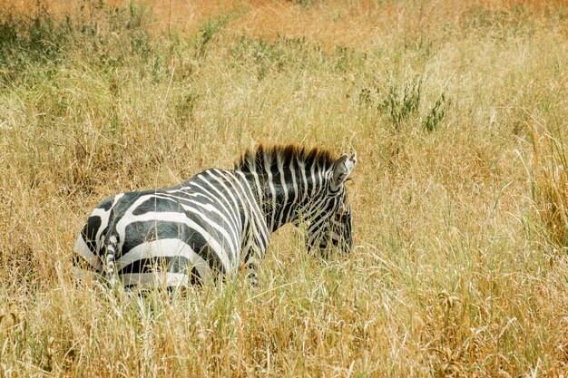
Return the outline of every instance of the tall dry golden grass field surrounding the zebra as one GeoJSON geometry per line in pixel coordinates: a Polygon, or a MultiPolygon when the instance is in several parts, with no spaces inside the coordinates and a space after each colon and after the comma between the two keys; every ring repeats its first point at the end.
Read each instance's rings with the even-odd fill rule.
{"type": "Polygon", "coordinates": [[[0,10],[0,376],[568,376],[563,1],[0,10]],[[257,288],[75,284],[99,201],[259,142],[357,150],[349,257],[283,228],[257,288]]]}

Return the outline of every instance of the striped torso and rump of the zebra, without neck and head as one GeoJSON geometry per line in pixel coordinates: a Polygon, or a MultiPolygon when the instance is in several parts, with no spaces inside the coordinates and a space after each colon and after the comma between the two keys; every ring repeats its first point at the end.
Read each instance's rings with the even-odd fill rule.
{"type": "Polygon", "coordinates": [[[248,223],[239,175],[205,170],[172,188],[105,199],[75,244],[78,276],[105,275],[124,286],[189,285],[239,266],[248,223]]]}

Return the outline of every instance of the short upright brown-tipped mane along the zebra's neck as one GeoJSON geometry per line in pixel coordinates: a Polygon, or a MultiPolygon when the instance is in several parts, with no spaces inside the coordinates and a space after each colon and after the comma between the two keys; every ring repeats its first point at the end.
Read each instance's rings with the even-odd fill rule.
{"type": "Polygon", "coordinates": [[[335,162],[331,152],[324,149],[308,150],[296,144],[270,147],[260,144],[256,150],[247,150],[240,157],[240,160],[235,164],[235,170],[252,172],[257,170],[257,167],[264,167],[265,160],[269,160],[271,164],[276,164],[280,160],[283,167],[289,167],[290,164],[302,161],[307,167],[316,164],[317,167],[324,170],[333,166],[335,162]]]}

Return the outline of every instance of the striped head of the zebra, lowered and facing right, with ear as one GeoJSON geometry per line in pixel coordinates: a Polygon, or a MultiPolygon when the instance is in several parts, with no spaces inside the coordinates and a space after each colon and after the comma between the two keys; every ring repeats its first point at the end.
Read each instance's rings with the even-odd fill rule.
{"type": "Polygon", "coordinates": [[[344,154],[327,172],[324,188],[309,208],[305,209],[308,250],[319,249],[325,256],[331,249],[348,254],[353,247],[351,208],[345,182],[349,179],[357,154],[344,154]]]}

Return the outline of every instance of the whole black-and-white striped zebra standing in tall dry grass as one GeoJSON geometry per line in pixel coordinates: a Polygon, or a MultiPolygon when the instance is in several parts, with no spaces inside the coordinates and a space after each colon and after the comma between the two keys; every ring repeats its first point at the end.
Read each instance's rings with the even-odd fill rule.
{"type": "Polygon", "coordinates": [[[80,280],[111,286],[190,286],[243,272],[257,285],[270,234],[304,225],[309,251],[353,247],[345,183],[357,154],[298,145],[247,150],[233,170],[104,199],[73,249],[80,280]]]}

